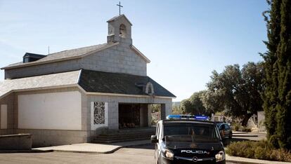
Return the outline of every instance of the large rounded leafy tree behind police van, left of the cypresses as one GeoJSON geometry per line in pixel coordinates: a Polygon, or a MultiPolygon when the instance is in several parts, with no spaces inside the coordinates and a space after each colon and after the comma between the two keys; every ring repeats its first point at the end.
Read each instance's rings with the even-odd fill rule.
{"type": "Polygon", "coordinates": [[[238,64],[228,65],[221,74],[214,70],[202,98],[204,106],[213,113],[224,111],[228,116],[242,118],[242,125],[247,125],[252,114],[261,110],[263,77],[261,64],[254,62],[243,65],[243,69],[238,64]]]}

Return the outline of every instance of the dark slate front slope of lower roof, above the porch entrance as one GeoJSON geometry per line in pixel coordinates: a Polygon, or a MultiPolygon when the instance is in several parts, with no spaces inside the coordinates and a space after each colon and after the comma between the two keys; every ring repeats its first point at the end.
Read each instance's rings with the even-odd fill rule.
{"type": "Polygon", "coordinates": [[[175,95],[148,76],[82,70],[79,78],[79,86],[86,90],[86,92],[126,95],[148,95],[142,88],[136,85],[145,85],[148,82],[153,84],[155,96],[175,97],[175,95]]]}

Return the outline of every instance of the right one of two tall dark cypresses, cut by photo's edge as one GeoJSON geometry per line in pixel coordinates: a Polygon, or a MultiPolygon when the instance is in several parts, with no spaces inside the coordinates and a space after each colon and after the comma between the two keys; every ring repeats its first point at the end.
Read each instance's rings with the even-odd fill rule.
{"type": "Polygon", "coordinates": [[[280,148],[291,149],[291,0],[280,5],[280,42],[278,54],[278,103],[276,106],[280,148]]]}

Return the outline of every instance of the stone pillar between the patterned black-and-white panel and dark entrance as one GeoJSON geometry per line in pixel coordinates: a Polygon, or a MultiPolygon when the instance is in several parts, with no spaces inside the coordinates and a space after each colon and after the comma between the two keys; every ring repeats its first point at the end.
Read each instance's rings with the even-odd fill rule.
{"type": "Polygon", "coordinates": [[[118,102],[108,102],[108,128],[118,130],[118,102]]]}

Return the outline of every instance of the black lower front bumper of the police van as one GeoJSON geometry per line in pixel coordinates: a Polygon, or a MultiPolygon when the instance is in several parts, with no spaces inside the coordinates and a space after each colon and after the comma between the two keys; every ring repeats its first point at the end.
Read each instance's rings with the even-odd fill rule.
{"type": "Polygon", "coordinates": [[[188,158],[188,157],[181,157],[181,156],[174,156],[174,160],[169,160],[167,158],[161,157],[162,164],[172,164],[172,163],[191,163],[191,164],[203,164],[203,163],[208,163],[208,164],[226,164],[226,160],[222,160],[220,162],[216,162],[215,158],[188,158]]]}

